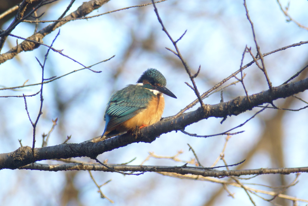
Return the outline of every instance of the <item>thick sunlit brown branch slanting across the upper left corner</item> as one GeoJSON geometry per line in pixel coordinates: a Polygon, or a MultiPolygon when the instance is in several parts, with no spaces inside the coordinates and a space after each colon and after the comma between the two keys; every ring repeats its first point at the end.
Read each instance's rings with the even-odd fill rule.
{"type": "MultiPolygon", "coordinates": [[[[81,6],[78,7],[78,9],[71,14],[67,15],[63,19],[69,20],[73,18],[80,18],[84,17],[87,14],[91,13],[93,10],[98,9],[103,4],[107,3],[109,0],[91,0],[89,2],[84,2],[81,6]]],[[[18,53],[22,51],[31,51],[40,46],[40,42],[43,42],[43,38],[50,34],[52,31],[56,30],[63,24],[67,23],[68,21],[61,21],[61,22],[55,22],[52,23],[39,32],[33,34],[32,36],[28,37],[27,39],[32,41],[23,41],[22,43],[18,44],[14,48],[10,49],[8,52],[0,55],[0,64],[7,61],[8,59],[13,59],[14,56],[16,56],[18,53]],[[33,42],[35,41],[35,42],[33,42]],[[36,43],[37,42],[37,43],[36,43]]]]}

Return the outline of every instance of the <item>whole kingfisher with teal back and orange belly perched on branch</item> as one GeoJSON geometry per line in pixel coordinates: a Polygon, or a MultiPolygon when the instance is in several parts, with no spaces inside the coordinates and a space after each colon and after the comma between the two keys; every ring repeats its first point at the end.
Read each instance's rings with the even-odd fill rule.
{"type": "Polygon", "coordinates": [[[105,131],[101,138],[136,131],[160,121],[165,107],[163,94],[177,99],[166,88],[166,83],[160,71],[149,68],[143,72],[137,84],[129,84],[115,91],[107,103],[105,131]]]}

